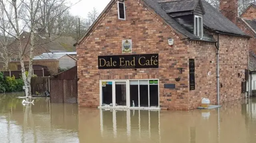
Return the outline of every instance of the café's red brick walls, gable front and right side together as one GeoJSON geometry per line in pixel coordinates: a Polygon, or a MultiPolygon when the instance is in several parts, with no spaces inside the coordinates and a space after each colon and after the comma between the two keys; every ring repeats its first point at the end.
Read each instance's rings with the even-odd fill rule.
{"type": "MultiPolygon", "coordinates": [[[[174,31],[161,22],[150,10],[136,0],[125,1],[126,21],[118,20],[117,5],[106,13],[95,29],[77,46],[78,104],[81,107],[98,107],[100,104],[100,79],[150,79],[160,80],[160,107],[171,110],[188,110],[200,105],[201,98],[216,103],[216,47],[213,43],[180,40],[174,31]],[[168,38],[174,46],[168,46],[168,38]],[[98,55],[123,55],[122,39],[132,39],[133,54],[159,54],[158,69],[98,70],[98,55]],[[189,91],[188,59],[195,58],[196,90],[189,91]],[[210,61],[213,61],[210,63],[210,61]],[[184,68],[178,74],[177,68],[184,68]],[[143,71],[143,72],[140,72],[143,71]],[[207,73],[211,72],[208,76],[207,73]],[[181,76],[180,82],[174,78],[181,76]],[[176,89],[165,89],[164,83],[176,84],[176,89]]],[[[246,69],[247,40],[220,36],[220,101],[242,98],[241,78],[238,72],[246,69]],[[228,50],[228,51],[226,51],[228,50]],[[239,65],[239,64],[243,65],[239,65]],[[227,65],[225,65],[227,64],[227,65]],[[236,68],[235,68],[236,66],[236,68]],[[232,68],[231,68],[232,67],[232,68]]],[[[244,74],[240,73],[242,77],[244,74]]]]}

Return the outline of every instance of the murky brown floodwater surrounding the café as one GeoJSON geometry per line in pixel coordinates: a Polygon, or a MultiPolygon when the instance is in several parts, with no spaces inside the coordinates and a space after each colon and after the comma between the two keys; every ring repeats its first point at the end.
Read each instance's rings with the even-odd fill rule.
{"type": "Polygon", "coordinates": [[[256,99],[159,112],[78,108],[49,98],[24,106],[17,95],[0,94],[0,143],[256,143],[256,99]]]}

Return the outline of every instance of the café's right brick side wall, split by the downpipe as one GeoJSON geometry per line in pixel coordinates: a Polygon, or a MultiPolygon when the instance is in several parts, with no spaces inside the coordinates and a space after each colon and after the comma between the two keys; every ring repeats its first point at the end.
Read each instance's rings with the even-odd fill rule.
{"type": "MultiPolygon", "coordinates": [[[[214,36],[217,39],[216,35],[214,36]]],[[[220,103],[242,98],[243,70],[247,69],[248,40],[220,35],[220,103]],[[238,77],[240,73],[240,77],[238,77]]],[[[200,105],[202,98],[217,104],[216,47],[211,43],[190,42],[188,53],[195,58],[196,90],[189,92],[189,109],[200,105]],[[212,61],[212,62],[210,62],[212,61]],[[211,74],[208,75],[208,72],[211,74]]]]}

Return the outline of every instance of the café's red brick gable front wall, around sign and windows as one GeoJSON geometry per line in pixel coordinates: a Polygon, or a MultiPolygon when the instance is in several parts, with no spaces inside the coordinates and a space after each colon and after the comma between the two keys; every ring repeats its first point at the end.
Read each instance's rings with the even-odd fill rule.
{"type": "Polygon", "coordinates": [[[177,90],[164,89],[164,83],[176,83],[177,68],[188,67],[185,41],[160,20],[140,6],[137,1],[125,1],[126,21],[118,20],[117,5],[100,21],[91,35],[77,47],[78,52],[78,104],[99,106],[100,79],[160,79],[160,105],[162,108],[184,109],[187,105],[188,71],[185,70],[177,90]],[[168,37],[174,38],[174,47],[168,46],[168,37]],[[132,39],[133,54],[159,54],[158,69],[98,70],[98,55],[122,55],[122,39],[132,39]],[[83,71],[81,74],[81,71],[83,71]],[[144,71],[144,73],[140,72],[144,71]],[[171,101],[168,101],[168,100],[171,101]]]}

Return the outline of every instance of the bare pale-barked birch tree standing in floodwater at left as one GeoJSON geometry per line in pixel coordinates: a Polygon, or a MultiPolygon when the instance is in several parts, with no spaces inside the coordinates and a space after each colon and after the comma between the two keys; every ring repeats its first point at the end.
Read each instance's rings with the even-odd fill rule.
{"type": "MultiPolygon", "coordinates": [[[[16,47],[18,47],[18,55],[20,58],[22,79],[25,85],[26,96],[31,96],[30,81],[32,77],[32,59],[34,57],[34,48],[38,45],[37,43],[35,43],[35,31],[37,25],[40,24],[41,21],[41,26],[43,27],[43,29],[45,27],[49,27],[50,29],[51,27],[48,25],[51,25],[52,21],[54,21],[54,19],[50,20],[50,18],[47,17],[48,12],[52,12],[53,9],[48,10],[48,12],[44,14],[40,12],[42,12],[42,7],[44,9],[44,4],[48,4],[48,6],[51,6],[53,4],[50,2],[55,1],[56,3],[54,3],[55,5],[53,6],[54,9],[60,10],[59,13],[55,16],[57,17],[62,15],[68,9],[68,7],[64,9],[62,8],[63,3],[60,2],[61,0],[20,0],[19,2],[17,2],[17,0],[0,0],[0,7],[3,9],[4,14],[6,15],[13,31],[8,31],[9,29],[6,29],[6,27],[3,27],[2,25],[0,25],[0,29],[2,29],[5,33],[8,33],[9,36],[12,36],[16,39],[16,47]],[[11,11],[9,11],[9,9],[11,9],[11,11]],[[22,22],[23,25],[20,24],[22,22]],[[29,39],[24,39],[24,37],[20,37],[24,29],[28,29],[29,39]],[[29,61],[28,76],[26,76],[24,67],[24,58],[25,56],[27,56],[27,53],[29,61]]],[[[48,8],[47,6],[45,7],[46,9],[48,8]]]]}

